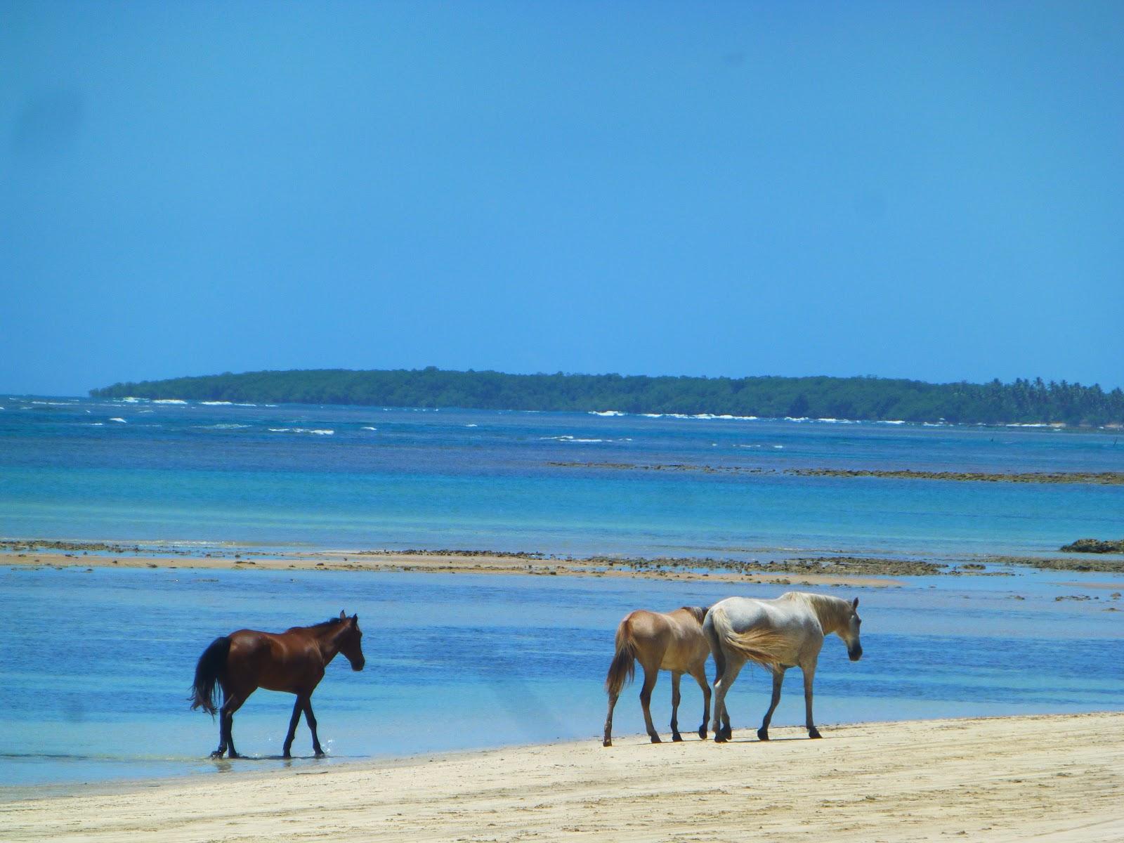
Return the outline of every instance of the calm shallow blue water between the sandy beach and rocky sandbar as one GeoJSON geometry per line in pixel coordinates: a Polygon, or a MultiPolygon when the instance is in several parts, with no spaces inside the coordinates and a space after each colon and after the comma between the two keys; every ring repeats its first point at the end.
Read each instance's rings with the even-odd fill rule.
{"type": "MultiPolygon", "coordinates": [[[[864,658],[834,637],[816,676],[821,725],[916,717],[1120,708],[1124,611],[1106,574],[918,578],[861,597],[864,658]],[[1099,586],[1098,586],[1099,583],[1099,586]],[[1097,599],[1055,600],[1085,593],[1097,599]],[[1025,599],[1017,600],[1015,596],[1025,599]]],[[[1124,582],[1117,583],[1117,590],[1124,582]]],[[[357,611],[366,669],[333,663],[314,697],[341,759],[599,740],[616,624],[638,607],[704,605],[783,589],[616,578],[93,569],[0,569],[0,785],[79,782],[279,768],[292,697],[259,691],[235,718],[239,751],[212,762],[217,725],[188,709],[194,662],[239,627],[283,629],[357,611]]],[[[713,665],[708,667],[708,673],[713,665]]],[[[803,723],[798,671],[774,722],[803,723]]],[[[615,733],[643,731],[638,688],[615,733]]],[[[728,698],[755,728],[769,680],[745,670],[728,698]]],[[[653,717],[670,717],[661,677],[653,717]]],[[[680,722],[701,695],[683,682],[680,722]]],[[[310,754],[301,725],[294,752],[310,754]]]]}

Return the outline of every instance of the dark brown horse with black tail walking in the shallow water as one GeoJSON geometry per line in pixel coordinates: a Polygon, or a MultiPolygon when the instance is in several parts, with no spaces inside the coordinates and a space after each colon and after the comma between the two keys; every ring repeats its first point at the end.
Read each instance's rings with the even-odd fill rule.
{"type": "Polygon", "coordinates": [[[312,691],[324,679],[324,669],[336,653],[346,656],[352,670],[363,670],[362,637],[359,615],[347,617],[341,611],[339,617],[316,626],[294,626],[283,633],[238,629],[215,638],[199,656],[189,697],[192,709],[202,708],[211,716],[219,715],[218,749],[211,758],[223,758],[225,752],[230,758],[238,758],[230,736],[234,713],[259,688],[297,695],[289,734],[284,738],[284,758],[289,758],[301,711],[312,733],[312,750],[317,758],[323,755],[312,715],[312,691]],[[216,686],[223,689],[221,707],[215,705],[216,686]]]}

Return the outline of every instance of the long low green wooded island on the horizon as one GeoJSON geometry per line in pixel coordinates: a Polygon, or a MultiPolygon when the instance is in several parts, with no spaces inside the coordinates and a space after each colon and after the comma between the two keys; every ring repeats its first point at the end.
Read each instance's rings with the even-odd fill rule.
{"type": "Polygon", "coordinates": [[[889,378],[689,378],[311,369],[210,374],[91,389],[93,398],[260,404],[714,414],[762,418],[1120,425],[1124,392],[1042,379],[926,383],[889,378]]]}

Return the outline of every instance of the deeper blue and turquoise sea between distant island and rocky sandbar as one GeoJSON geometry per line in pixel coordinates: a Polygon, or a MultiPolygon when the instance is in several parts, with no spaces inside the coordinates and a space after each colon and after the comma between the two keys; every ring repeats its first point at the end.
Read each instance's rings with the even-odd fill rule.
{"type": "Polygon", "coordinates": [[[1124,471],[1111,433],[0,398],[0,535],[584,555],[1046,553],[1124,487],[552,463],[1124,471]],[[119,419],[119,420],[114,420],[119,419]]]}

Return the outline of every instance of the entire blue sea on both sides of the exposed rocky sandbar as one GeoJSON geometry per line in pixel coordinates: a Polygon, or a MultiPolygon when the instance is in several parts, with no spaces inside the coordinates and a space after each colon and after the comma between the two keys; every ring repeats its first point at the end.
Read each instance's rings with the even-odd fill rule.
{"type": "MultiPolygon", "coordinates": [[[[1124,470],[1124,447],[1106,432],[84,399],[0,406],[0,534],[9,538],[964,560],[1124,536],[1122,487],[776,473],[1124,470]],[[622,468],[642,464],[691,468],[622,468]]],[[[599,741],[601,682],[628,610],[785,590],[74,562],[0,568],[8,792],[599,741]],[[341,659],[312,699],[329,758],[307,758],[301,725],[293,749],[303,758],[277,759],[292,698],[259,691],[235,718],[237,745],[252,758],[208,760],[217,724],[187,703],[203,647],[236,628],[283,629],[341,609],[360,615],[368,664],[353,673],[341,659]]],[[[817,722],[827,734],[858,720],[1120,708],[1120,581],[1019,569],[833,588],[861,598],[864,658],[850,663],[839,641],[825,644],[817,722]]],[[[637,691],[622,697],[616,734],[643,729],[637,691]]],[[[669,697],[663,676],[653,696],[661,729],[669,697]]],[[[743,671],[728,699],[735,731],[755,728],[768,698],[765,674],[743,671]]],[[[685,735],[700,704],[688,678],[685,735]]],[[[803,716],[791,672],[774,723],[803,716]]]]}

